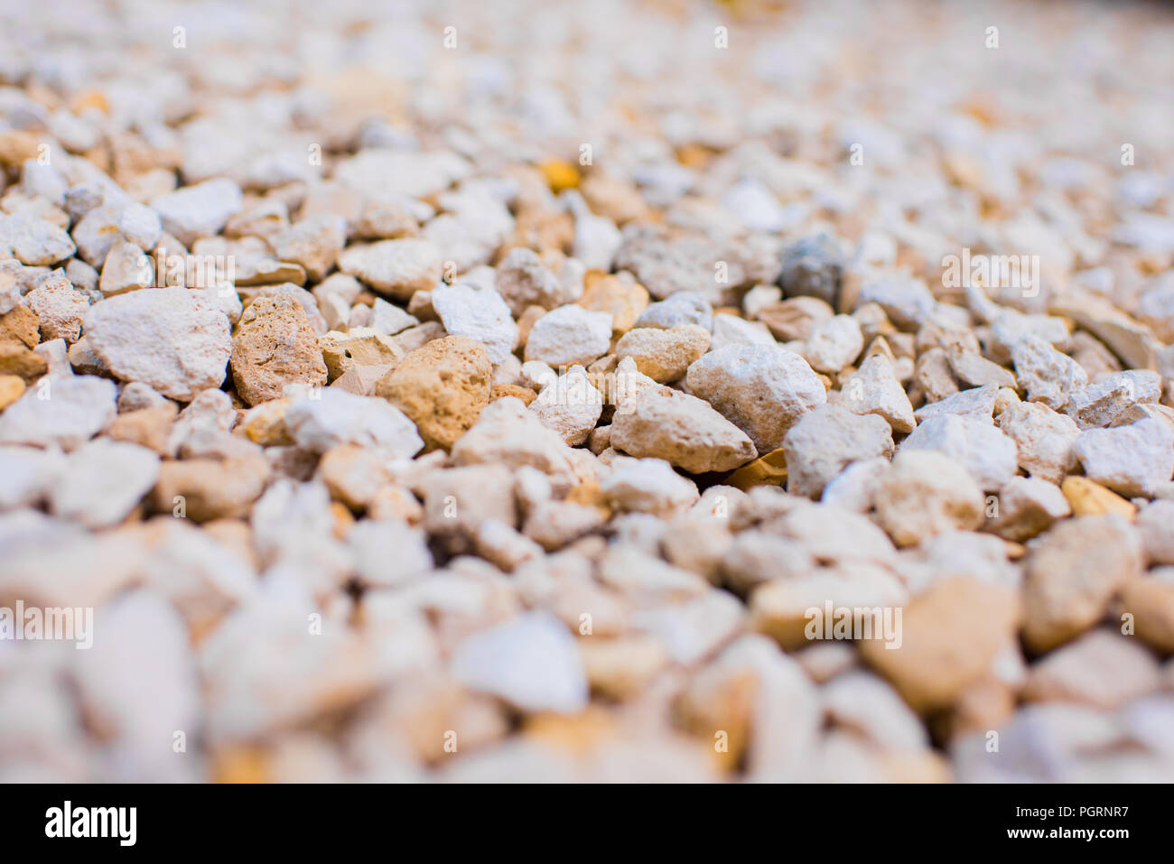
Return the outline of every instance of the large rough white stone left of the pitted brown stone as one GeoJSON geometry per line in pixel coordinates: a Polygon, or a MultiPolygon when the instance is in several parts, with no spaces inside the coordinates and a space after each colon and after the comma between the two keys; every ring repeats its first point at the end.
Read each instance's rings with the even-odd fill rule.
{"type": "Polygon", "coordinates": [[[113,374],[190,401],[224,382],[234,340],[224,313],[184,288],[131,291],[90,306],[86,343],[113,374]]]}

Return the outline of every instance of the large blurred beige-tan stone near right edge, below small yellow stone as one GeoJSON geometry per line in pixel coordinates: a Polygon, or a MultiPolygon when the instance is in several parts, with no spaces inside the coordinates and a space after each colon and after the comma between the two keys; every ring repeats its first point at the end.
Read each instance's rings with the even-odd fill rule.
{"type": "Polygon", "coordinates": [[[1119,515],[1081,517],[1052,528],[1027,558],[1024,641],[1034,653],[1100,621],[1114,594],[1145,571],[1138,531],[1119,515]]]}

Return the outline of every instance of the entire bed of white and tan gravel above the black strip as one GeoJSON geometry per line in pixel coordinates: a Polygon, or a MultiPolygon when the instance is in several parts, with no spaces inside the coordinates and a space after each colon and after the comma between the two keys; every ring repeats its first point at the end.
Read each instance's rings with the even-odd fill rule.
{"type": "Polygon", "coordinates": [[[1169,8],[2,16],[0,779],[1174,777],[1169,8]]]}

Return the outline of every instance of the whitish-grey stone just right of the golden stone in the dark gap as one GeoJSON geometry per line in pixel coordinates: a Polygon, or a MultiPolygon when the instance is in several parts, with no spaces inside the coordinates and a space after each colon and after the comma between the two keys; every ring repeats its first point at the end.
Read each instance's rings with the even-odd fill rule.
{"type": "Polygon", "coordinates": [[[861,459],[891,457],[892,428],[875,414],[821,405],[803,414],[783,438],[787,491],[818,498],[836,474],[861,459]]]}

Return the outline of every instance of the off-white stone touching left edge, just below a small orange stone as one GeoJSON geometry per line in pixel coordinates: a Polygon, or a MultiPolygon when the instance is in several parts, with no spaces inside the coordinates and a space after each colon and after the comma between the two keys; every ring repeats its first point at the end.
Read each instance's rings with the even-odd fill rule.
{"type": "Polygon", "coordinates": [[[104,378],[55,378],[47,390],[29,390],[5,409],[0,444],[76,450],[114,419],[116,396],[114,382],[104,378]]]}

